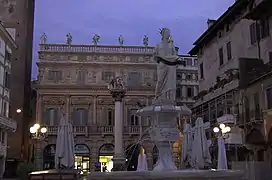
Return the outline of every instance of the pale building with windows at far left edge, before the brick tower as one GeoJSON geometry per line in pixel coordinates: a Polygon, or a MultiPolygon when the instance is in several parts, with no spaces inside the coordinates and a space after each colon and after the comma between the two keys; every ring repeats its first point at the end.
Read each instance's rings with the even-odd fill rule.
{"type": "Polygon", "coordinates": [[[14,37],[0,23],[0,177],[5,170],[8,133],[17,129],[16,121],[9,118],[11,57],[16,48],[14,37]]]}

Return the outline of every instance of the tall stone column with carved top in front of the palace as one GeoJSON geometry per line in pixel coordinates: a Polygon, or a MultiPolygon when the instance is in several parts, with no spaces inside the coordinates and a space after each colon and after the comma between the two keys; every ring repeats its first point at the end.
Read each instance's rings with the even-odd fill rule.
{"type": "Polygon", "coordinates": [[[118,84],[120,79],[116,79],[116,84],[109,87],[110,93],[115,101],[114,116],[114,156],[113,171],[122,171],[125,168],[125,157],[123,150],[123,104],[126,90],[122,84],[118,84]]]}

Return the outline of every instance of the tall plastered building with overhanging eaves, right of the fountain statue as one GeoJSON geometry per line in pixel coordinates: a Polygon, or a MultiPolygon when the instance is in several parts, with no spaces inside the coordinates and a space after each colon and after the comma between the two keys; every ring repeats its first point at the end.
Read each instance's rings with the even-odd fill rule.
{"type": "MultiPolygon", "coordinates": [[[[252,7],[255,7],[254,1],[237,0],[218,20],[208,20],[208,29],[189,52],[198,56],[199,69],[199,93],[195,97],[193,114],[210,121],[211,126],[218,123],[232,125],[230,136],[233,138],[227,142],[230,146],[246,143],[242,138],[244,131],[236,123],[240,118],[239,112],[244,109],[239,88],[240,69],[243,67],[239,59],[271,61],[271,16],[259,20],[246,18],[252,7]]],[[[207,134],[213,136],[211,132],[207,134]]],[[[239,159],[233,155],[229,160],[239,159]]]]}

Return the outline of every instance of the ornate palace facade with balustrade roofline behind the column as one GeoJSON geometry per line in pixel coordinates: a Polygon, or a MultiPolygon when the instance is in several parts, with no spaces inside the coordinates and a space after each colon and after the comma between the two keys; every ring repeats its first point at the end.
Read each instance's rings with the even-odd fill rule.
{"type": "MultiPolygon", "coordinates": [[[[101,162],[108,170],[111,169],[114,99],[107,85],[112,77],[121,75],[127,87],[123,100],[123,147],[125,156],[131,161],[129,167],[135,170],[138,154],[134,152],[139,150],[136,144],[150,125],[147,119],[141,119],[135,112],[139,104],[148,105],[154,97],[157,76],[154,48],[147,45],[123,46],[121,43],[119,46],[45,43],[43,41],[40,45],[37,63],[35,109],[36,121],[46,126],[48,131],[46,138],[38,141],[33,150],[36,165],[40,169],[54,167],[58,123],[62,114],[68,114],[74,128],[76,167],[90,171],[94,170],[97,162],[101,162]],[[132,150],[126,150],[132,146],[132,150]]],[[[180,60],[188,62],[183,69],[177,68],[178,84],[181,89],[183,85],[190,90],[183,89],[183,95],[177,98],[179,103],[190,106],[198,85],[196,57],[180,56],[180,60]]],[[[152,168],[157,160],[157,148],[146,140],[147,135],[142,139],[145,139],[141,144],[145,148],[149,168],[152,168]]],[[[174,147],[177,149],[177,143],[174,147]]]]}

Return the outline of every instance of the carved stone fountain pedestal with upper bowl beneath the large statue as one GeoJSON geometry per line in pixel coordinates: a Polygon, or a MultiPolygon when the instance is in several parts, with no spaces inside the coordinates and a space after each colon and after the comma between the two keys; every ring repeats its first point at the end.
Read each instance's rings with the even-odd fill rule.
{"type": "Polygon", "coordinates": [[[171,102],[154,102],[137,112],[151,119],[150,137],[159,150],[159,158],[153,171],[176,170],[172,155],[172,143],[179,138],[176,118],[182,113],[180,106],[171,102]]]}

